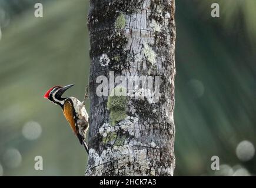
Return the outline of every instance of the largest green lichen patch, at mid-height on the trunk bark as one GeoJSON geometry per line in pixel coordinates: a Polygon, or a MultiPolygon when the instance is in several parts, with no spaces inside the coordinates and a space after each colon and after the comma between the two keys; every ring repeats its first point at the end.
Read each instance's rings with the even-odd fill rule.
{"type": "Polygon", "coordinates": [[[126,113],[127,97],[116,96],[117,92],[120,92],[120,91],[126,93],[126,89],[124,87],[117,86],[114,89],[112,89],[108,97],[107,108],[109,110],[111,125],[113,126],[119,120],[125,119],[125,117],[127,117],[127,113],[126,113]]]}

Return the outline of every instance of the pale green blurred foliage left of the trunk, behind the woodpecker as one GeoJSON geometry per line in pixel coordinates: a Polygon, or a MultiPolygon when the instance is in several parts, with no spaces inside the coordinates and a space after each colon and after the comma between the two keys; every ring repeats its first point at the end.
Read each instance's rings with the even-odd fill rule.
{"type": "MultiPolygon", "coordinates": [[[[89,39],[84,1],[52,1],[44,4],[44,18],[34,17],[34,5],[13,19],[0,41],[0,156],[9,147],[22,155],[16,169],[4,175],[79,175],[87,162],[59,106],[43,98],[52,85],[75,83],[67,95],[83,99],[89,72],[89,39]],[[21,134],[26,122],[42,126],[38,140],[21,134]],[[34,170],[41,155],[44,170],[34,170]]],[[[89,105],[89,104],[88,104],[89,105]]],[[[87,109],[89,106],[87,106],[87,109]]]]}

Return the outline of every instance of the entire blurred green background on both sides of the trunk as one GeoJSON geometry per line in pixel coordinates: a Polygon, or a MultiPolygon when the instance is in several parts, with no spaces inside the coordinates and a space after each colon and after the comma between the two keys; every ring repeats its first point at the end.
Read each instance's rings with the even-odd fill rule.
{"type": "MultiPolygon", "coordinates": [[[[176,176],[256,174],[256,1],[176,1],[176,176]],[[211,4],[220,4],[220,18],[211,4]],[[220,170],[211,170],[211,157],[220,170]]],[[[0,175],[83,176],[87,155],[52,85],[83,99],[88,0],[0,0],[0,175]],[[35,18],[35,2],[44,18],[35,18]],[[42,156],[44,170],[34,169],[42,156]]],[[[89,109],[89,103],[87,104],[89,109]]]]}

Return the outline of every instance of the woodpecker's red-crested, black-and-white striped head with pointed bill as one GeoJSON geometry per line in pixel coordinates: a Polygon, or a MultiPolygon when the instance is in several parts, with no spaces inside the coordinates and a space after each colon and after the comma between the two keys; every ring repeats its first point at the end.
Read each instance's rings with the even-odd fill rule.
{"type": "Polygon", "coordinates": [[[50,88],[44,95],[45,99],[49,99],[51,102],[63,106],[64,105],[64,100],[66,98],[62,98],[62,94],[65,92],[65,90],[71,88],[74,86],[74,84],[67,85],[67,86],[54,86],[50,88]]]}

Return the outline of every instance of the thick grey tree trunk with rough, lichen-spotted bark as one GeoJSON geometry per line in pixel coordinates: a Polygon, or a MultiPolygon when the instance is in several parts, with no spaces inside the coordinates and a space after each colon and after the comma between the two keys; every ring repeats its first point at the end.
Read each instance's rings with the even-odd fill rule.
{"type": "Polygon", "coordinates": [[[173,176],[174,13],[174,0],[91,0],[85,175],[173,176]]]}

